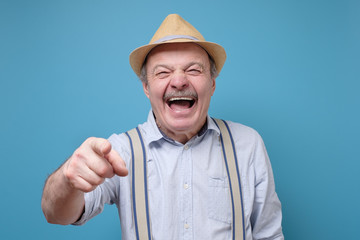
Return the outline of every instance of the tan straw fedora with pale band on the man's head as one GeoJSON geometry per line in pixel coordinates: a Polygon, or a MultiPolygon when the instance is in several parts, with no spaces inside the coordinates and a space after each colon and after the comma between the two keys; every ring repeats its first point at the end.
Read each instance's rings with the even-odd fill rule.
{"type": "Polygon", "coordinates": [[[205,41],[201,33],[178,14],[168,15],[149,44],[135,49],[130,54],[132,69],[139,76],[144,60],[151,49],[160,44],[179,42],[194,42],[203,47],[214,59],[216,70],[220,73],[226,59],[224,48],[219,44],[205,41]]]}

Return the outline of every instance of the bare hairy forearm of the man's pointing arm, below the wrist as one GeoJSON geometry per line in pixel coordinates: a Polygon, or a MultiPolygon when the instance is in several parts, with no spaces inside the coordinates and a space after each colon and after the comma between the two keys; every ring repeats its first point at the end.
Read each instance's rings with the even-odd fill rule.
{"type": "Polygon", "coordinates": [[[46,181],[41,207],[49,223],[67,225],[79,219],[85,201],[84,193],[73,188],[64,177],[63,167],[46,181]]]}

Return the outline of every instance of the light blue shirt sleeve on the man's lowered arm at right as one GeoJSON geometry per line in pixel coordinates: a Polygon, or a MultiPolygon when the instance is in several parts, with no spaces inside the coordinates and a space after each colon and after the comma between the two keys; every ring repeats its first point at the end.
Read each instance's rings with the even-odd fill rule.
{"type": "Polygon", "coordinates": [[[275,192],[270,160],[260,136],[257,137],[253,163],[255,168],[255,196],[251,214],[253,239],[284,239],[281,227],[281,203],[275,192]]]}

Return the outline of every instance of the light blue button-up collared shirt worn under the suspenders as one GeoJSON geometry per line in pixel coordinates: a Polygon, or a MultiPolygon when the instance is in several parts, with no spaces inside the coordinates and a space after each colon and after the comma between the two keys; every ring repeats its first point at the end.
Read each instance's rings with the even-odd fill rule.
{"type": "MultiPolygon", "coordinates": [[[[263,141],[255,130],[227,123],[241,176],[246,240],[284,239],[281,204],[263,141]]],[[[147,151],[153,239],[230,239],[229,182],[221,155],[220,130],[214,121],[207,117],[206,126],[186,144],[162,134],[152,111],[139,129],[147,151]]],[[[125,134],[114,134],[109,141],[126,165],[131,166],[125,134]]],[[[135,239],[130,193],[129,176],[106,179],[85,194],[85,212],[75,224],[84,224],[99,214],[104,204],[116,204],[122,239],[135,239]]]]}

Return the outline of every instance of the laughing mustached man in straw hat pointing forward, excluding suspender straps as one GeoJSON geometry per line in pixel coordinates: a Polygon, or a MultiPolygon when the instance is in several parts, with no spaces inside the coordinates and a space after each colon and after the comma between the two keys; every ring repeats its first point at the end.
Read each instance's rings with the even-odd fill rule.
{"type": "Polygon", "coordinates": [[[137,239],[143,225],[149,226],[149,239],[283,239],[281,205],[261,137],[227,121],[241,180],[239,203],[231,190],[235,182],[224,164],[223,134],[208,116],[225,58],[220,45],[205,41],[179,15],[169,15],[150,44],[130,55],[152,107],[138,127],[149,219],[139,225],[134,220],[142,213],[134,214],[133,180],[127,176],[132,145],[126,134],[114,134],[87,139],[48,178],[42,198],[48,222],[81,225],[105,203],[115,203],[122,239],[137,239]]]}

